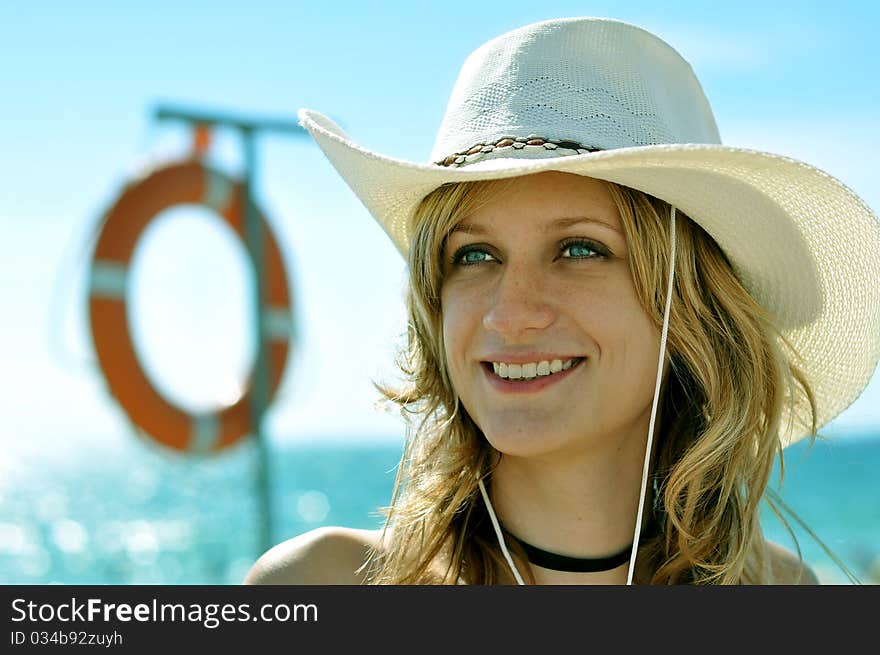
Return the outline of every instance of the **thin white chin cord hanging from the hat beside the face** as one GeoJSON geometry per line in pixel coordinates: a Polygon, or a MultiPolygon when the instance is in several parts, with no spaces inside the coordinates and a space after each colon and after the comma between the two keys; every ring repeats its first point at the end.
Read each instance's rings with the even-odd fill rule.
{"type": "MultiPolygon", "coordinates": [[[[642,533],[642,516],[645,510],[645,491],[648,488],[648,472],[651,468],[651,450],[654,443],[654,423],[657,418],[657,405],[660,401],[660,382],[663,380],[663,362],[666,359],[666,337],[669,332],[669,306],[672,304],[672,285],[675,280],[675,207],[670,213],[669,223],[669,280],[666,284],[666,307],[663,309],[663,330],[660,332],[660,359],[657,362],[657,380],[654,383],[654,400],[651,404],[651,422],[648,425],[648,443],[645,445],[645,461],[642,466],[642,487],[639,492],[639,509],[636,513],[636,526],[633,534],[632,552],[629,556],[629,570],[626,574],[626,584],[631,585],[633,572],[636,568],[636,555],[639,552],[639,538],[642,533]]],[[[507,560],[513,577],[516,578],[518,585],[524,585],[522,576],[513,563],[510,551],[507,550],[507,543],[504,541],[504,535],[501,534],[501,525],[498,523],[498,517],[495,516],[495,508],[492,507],[492,501],[489,500],[489,494],[486,492],[486,486],[480,474],[477,474],[477,484],[480,487],[480,493],[483,495],[483,501],[486,503],[486,509],[489,510],[489,518],[492,521],[492,527],[495,528],[495,534],[498,537],[498,545],[501,546],[501,552],[504,559],[507,560]]]]}

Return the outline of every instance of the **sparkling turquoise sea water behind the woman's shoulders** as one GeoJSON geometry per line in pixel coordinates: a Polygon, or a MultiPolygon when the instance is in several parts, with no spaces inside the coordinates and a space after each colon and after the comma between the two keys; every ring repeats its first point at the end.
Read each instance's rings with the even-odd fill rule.
{"type": "MultiPolygon", "coordinates": [[[[377,528],[401,442],[267,439],[271,533],[261,531],[253,441],[212,456],[139,438],[6,448],[0,458],[0,583],[239,584],[268,545],[324,525],[377,528]]],[[[880,436],[796,444],[783,499],[861,582],[880,582],[880,436]]],[[[778,467],[777,467],[778,472],[778,467]]],[[[768,538],[794,547],[765,507],[768,538]]],[[[824,583],[846,584],[803,528],[824,583]]]]}

